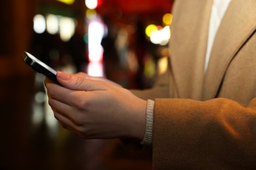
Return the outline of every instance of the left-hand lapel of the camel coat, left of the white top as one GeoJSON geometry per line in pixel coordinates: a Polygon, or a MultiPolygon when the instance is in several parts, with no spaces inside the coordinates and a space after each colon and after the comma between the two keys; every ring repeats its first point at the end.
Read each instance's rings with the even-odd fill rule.
{"type": "Polygon", "coordinates": [[[175,1],[171,26],[171,71],[177,97],[202,99],[203,68],[213,0],[175,1]]]}

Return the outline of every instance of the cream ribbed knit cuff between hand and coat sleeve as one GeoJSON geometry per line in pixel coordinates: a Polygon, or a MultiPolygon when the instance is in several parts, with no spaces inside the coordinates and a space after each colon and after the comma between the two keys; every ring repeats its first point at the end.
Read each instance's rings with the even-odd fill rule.
{"type": "Polygon", "coordinates": [[[148,100],[146,105],[146,131],[141,144],[152,144],[154,103],[154,101],[148,100]]]}

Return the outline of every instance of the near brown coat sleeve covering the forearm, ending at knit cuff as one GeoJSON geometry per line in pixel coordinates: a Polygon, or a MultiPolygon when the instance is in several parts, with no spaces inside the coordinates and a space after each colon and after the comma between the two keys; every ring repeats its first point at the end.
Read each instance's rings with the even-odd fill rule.
{"type": "Polygon", "coordinates": [[[256,167],[256,99],[156,99],[154,169],[256,167]]]}

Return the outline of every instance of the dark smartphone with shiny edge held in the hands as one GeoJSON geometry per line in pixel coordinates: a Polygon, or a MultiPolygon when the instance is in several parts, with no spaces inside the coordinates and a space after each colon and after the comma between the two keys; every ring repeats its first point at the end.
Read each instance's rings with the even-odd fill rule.
{"type": "Polygon", "coordinates": [[[28,52],[24,52],[22,54],[22,59],[24,60],[25,63],[30,65],[32,69],[34,69],[38,73],[41,73],[47,76],[54,82],[58,83],[58,80],[56,78],[57,71],[55,71],[54,69],[52,69],[51,67],[49,67],[48,65],[40,61],[38,58],[35,58],[34,56],[32,56],[32,54],[28,52]]]}

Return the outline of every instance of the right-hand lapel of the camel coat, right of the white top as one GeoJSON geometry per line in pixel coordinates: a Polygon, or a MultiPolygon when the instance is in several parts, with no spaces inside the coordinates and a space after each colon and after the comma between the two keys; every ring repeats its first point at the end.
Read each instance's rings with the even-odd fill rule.
{"type": "Polygon", "coordinates": [[[203,100],[217,97],[229,63],[255,29],[256,1],[232,0],[215,37],[205,75],[203,100]]]}

